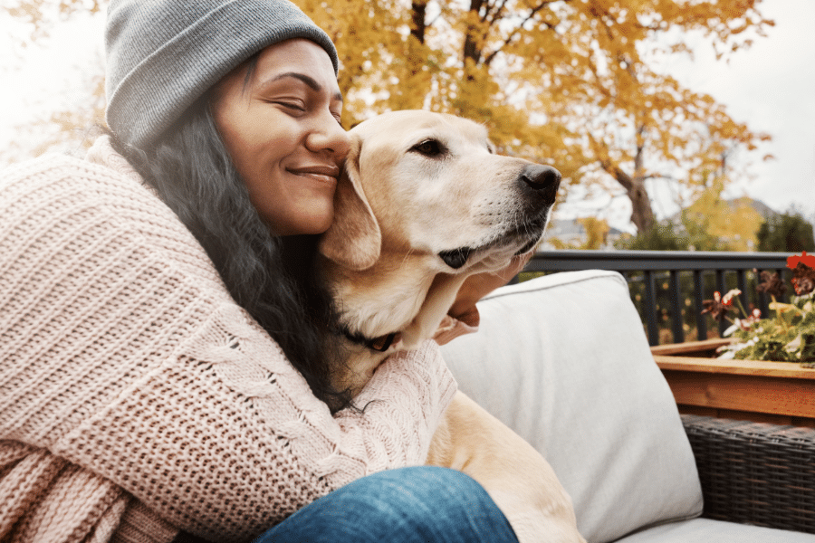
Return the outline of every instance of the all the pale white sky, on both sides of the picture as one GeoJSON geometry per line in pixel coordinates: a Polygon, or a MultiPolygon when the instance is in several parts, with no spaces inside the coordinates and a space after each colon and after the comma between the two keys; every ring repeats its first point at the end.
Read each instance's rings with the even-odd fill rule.
{"type": "MultiPolygon", "coordinates": [[[[739,153],[751,179],[741,179],[726,193],[748,195],[779,212],[792,205],[815,219],[815,20],[813,0],[764,0],[762,14],[775,26],[767,37],[716,62],[714,52],[697,35],[686,36],[693,60],[677,57],[666,70],[692,90],[711,94],[728,113],[754,131],[768,132],[772,142],[757,152],[739,153]],[[762,161],[771,154],[774,159],[762,161]]],[[[55,107],[81,103],[89,71],[102,65],[101,16],[79,17],[53,29],[47,46],[20,50],[15,33],[25,29],[0,16],[0,148],[18,138],[14,126],[46,116],[55,107]],[[4,42],[5,41],[5,42],[4,42]],[[14,81],[13,84],[9,82],[14,81]]],[[[657,216],[677,211],[676,197],[664,182],[649,186],[657,216]]],[[[632,231],[626,198],[587,200],[576,194],[558,215],[594,214],[621,230],[632,231]]]]}

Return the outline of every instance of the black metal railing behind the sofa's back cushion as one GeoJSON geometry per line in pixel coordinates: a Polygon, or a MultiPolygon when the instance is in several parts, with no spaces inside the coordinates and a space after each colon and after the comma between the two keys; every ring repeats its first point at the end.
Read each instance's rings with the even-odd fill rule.
{"type": "MultiPolygon", "coordinates": [[[[536,272],[619,271],[626,277],[632,297],[640,298],[636,305],[647,328],[648,342],[658,345],[660,321],[668,323],[675,343],[685,341],[686,320],[695,322],[697,338],[707,338],[702,302],[711,299],[713,291],[724,294],[731,288],[739,289],[744,308],[757,307],[767,315],[768,297],[755,290],[757,274],[778,271],[789,282],[789,256],[787,252],[545,251],[532,257],[521,279],[536,272]],[[661,299],[667,300],[666,308],[659,307],[661,299]],[[693,319],[689,318],[691,308],[693,319]]],[[[719,333],[728,325],[720,322],[719,333]]]]}

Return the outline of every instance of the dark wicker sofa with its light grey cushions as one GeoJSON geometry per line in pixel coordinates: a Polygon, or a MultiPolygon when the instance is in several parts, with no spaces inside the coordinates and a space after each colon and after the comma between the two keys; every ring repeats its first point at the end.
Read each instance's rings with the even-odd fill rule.
{"type": "Polygon", "coordinates": [[[479,310],[447,364],[551,462],[590,543],[815,543],[815,430],[678,414],[618,273],[526,281],[479,310]]]}

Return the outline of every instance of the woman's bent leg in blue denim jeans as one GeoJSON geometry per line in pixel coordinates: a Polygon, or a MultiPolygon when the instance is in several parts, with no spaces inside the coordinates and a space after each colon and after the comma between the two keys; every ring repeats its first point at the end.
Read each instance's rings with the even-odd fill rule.
{"type": "Polygon", "coordinates": [[[484,488],[431,466],[379,472],[297,511],[255,543],[517,543],[484,488]]]}

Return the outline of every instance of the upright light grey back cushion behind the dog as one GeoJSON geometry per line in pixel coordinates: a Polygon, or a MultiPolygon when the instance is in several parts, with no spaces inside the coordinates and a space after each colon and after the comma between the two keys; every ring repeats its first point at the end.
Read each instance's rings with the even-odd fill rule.
{"type": "Polygon", "coordinates": [[[479,331],[442,348],[447,365],[551,463],[585,538],[701,514],[693,452],[621,275],[552,274],[478,309],[479,331]]]}

